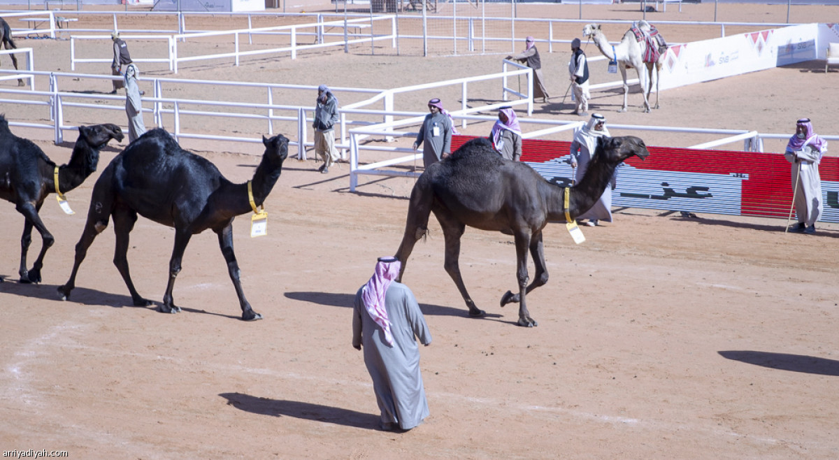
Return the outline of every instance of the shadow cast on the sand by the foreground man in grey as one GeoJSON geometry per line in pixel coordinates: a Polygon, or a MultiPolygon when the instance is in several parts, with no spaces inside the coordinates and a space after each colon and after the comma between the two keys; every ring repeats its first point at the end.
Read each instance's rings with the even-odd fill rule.
{"type": "Polygon", "coordinates": [[[242,393],[220,393],[219,396],[227,400],[227,405],[260,416],[295,417],[368,430],[378,430],[381,419],[379,416],[365,414],[357,410],[301,401],[272,400],[242,393]]]}

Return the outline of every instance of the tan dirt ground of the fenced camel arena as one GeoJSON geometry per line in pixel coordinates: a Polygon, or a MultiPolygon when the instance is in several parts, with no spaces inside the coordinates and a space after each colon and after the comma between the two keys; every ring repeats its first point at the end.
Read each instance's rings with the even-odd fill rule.
{"type": "MultiPolygon", "coordinates": [[[[689,7],[709,11],[685,4],[682,18],[693,14],[689,7]]],[[[616,8],[640,14],[637,5],[601,13],[616,8]]],[[[676,10],[671,5],[666,14],[676,10]]],[[[818,14],[835,16],[836,8],[793,20],[818,14]]],[[[65,40],[22,39],[18,46],[35,48],[48,67],[38,70],[69,70],[65,40]]],[[[567,52],[543,52],[554,97],[539,116],[572,118],[570,98],[560,102],[567,59],[567,52]]],[[[498,55],[311,53],[196,66],[178,76],[316,85],[328,74],[331,86],[388,87],[397,86],[392,76],[405,86],[499,68],[498,55]]],[[[805,63],[675,88],[649,114],[638,109],[637,93],[627,113],[615,112],[623,98],[615,91],[593,94],[592,107],[610,123],[763,133],[792,133],[795,119],[810,116],[818,132],[836,134],[839,81],[820,69],[805,63]]],[[[444,97],[455,101],[456,94],[444,97]]],[[[416,95],[415,103],[433,96],[416,95]]],[[[19,107],[3,104],[0,112],[11,120],[39,117],[19,107]]],[[[124,114],[118,117],[124,124],[124,114]]],[[[220,119],[207,123],[229,129],[220,119]]],[[[473,124],[466,133],[489,128],[473,124]]],[[[34,139],[56,163],[69,159],[70,142],[56,146],[45,131],[13,132],[34,139]]],[[[644,139],[701,142],[672,133],[644,139]]],[[[99,171],[126,144],[104,149],[99,171]]],[[[262,153],[258,144],[226,152],[195,140],[184,146],[240,183],[262,153]]],[[[242,285],[264,316],[256,322],[237,319],[212,233],[195,236],[186,250],[175,284],[184,311],[155,311],[174,232],[144,218],[128,258],[140,294],[155,306],[131,305],[112,264],[111,229],[91,246],[70,301],[58,300],[99,172],[67,194],[75,215],[60,212],[53,196],[44,203],[41,217],[56,242],[39,285],[17,282],[23,217],[0,203],[0,275],[7,279],[0,284],[0,450],[143,459],[839,457],[839,224],[823,223],[809,236],[784,234],[783,219],[616,209],[615,222],[583,228],[581,245],[550,224],[550,282],[528,297],[539,327],[522,328],[514,326],[516,306],[498,306],[515,285],[512,238],[468,229],[462,239],[466,287],[487,311],[472,319],[443,270],[442,235],[432,219],[430,238],[414,249],[404,277],[434,338],[420,350],[431,415],[394,434],[378,430],[371,380],[351,346],[351,311],[376,258],[399,246],[413,180],[362,180],[350,193],[347,164],[329,175],[317,165],[286,161],[266,201],[268,236],[249,238],[247,215],[234,224],[242,285]]],[[[29,267],[39,248],[34,235],[29,267]]]]}

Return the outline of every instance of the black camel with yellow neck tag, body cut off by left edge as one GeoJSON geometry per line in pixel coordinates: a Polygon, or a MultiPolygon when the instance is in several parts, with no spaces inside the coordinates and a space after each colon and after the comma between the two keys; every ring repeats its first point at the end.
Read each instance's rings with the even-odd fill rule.
{"type": "MultiPolygon", "coordinates": [[[[99,150],[111,139],[122,140],[122,129],[115,124],[80,126],[79,139],[73,147],[70,162],[58,168],[58,188],[66,193],[81,185],[96,170],[99,150]]],[[[55,163],[29,139],[18,138],[8,129],[8,121],[0,115],[0,198],[12,201],[26,221],[20,239],[21,283],[39,283],[44,254],[55,238],[38,215],[44,200],[55,193],[55,163]],[[32,227],[41,234],[41,252],[32,269],[26,269],[26,254],[32,243],[32,227]]],[[[0,279],[2,280],[2,279],[0,279]]]]}

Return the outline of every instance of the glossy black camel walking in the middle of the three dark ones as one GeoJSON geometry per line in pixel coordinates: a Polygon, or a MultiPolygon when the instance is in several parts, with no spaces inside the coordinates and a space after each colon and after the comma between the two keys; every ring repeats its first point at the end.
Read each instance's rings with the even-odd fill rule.
{"type": "MultiPolygon", "coordinates": [[[[256,206],[262,206],[274,188],[283,170],[283,161],[289,156],[289,139],[282,135],[271,139],[263,137],[263,144],[265,153],[250,181],[256,206]]],[[[76,244],[73,273],[67,284],[58,288],[59,294],[62,300],[70,298],[87,248],[113,217],[113,232],[117,236],[113,263],[128,285],[133,304],[152,305],[134,289],[128,271],[128,233],[139,214],[175,227],[175,248],[169,259],[169,284],[159,311],[180,311],[172,297],[175,277],[180,273],[180,261],[192,235],[209,228],[218,235],[221,254],[227,261],[227,272],[242,306],[242,320],[262,319],[262,315],[253,311],[245,300],[239,281],[239,265],[236,254],[233,254],[233,218],[251,211],[247,182],[233,184],[209,160],[181,149],[163,129],[153,129],[128,144],[128,148],[118,154],[96,180],[85,229],[76,244]]]]}

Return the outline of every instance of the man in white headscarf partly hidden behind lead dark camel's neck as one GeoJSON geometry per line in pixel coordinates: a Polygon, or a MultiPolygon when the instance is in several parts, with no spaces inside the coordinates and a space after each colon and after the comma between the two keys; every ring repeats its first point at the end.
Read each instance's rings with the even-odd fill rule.
{"type": "MultiPolygon", "coordinates": [[[[574,133],[574,140],[571,141],[571,168],[575,169],[575,184],[579,184],[582,176],[586,175],[591,155],[597,148],[597,138],[602,137],[608,138],[611,136],[606,128],[606,117],[603,117],[600,113],[592,113],[586,126],[574,133]]],[[[609,186],[606,187],[594,206],[591,206],[591,209],[577,217],[578,223],[582,223],[583,219],[588,219],[585,225],[594,227],[601,220],[612,222],[612,189],[617,185],[617,175],[618,170],[615,169],[612,179],[609,180],[609,186]]]]}

